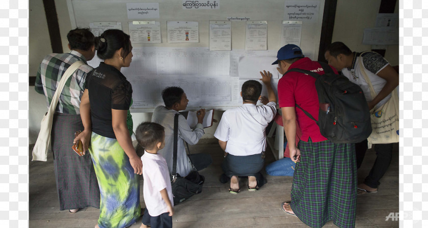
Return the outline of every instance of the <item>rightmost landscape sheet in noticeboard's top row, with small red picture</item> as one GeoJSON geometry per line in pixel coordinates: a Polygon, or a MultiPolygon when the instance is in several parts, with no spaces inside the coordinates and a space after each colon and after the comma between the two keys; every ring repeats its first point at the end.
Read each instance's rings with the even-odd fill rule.
{"type": "Polygon", "coordinates": [[[168,21],[168,43],[199,43],[198,21],[168,21]]]}

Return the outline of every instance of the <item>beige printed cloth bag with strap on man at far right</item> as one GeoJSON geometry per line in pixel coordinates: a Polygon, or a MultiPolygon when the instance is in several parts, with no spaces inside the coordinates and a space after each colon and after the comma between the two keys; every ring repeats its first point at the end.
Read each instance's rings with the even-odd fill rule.
{"type": "MultiPolygon", "coordinates": [[[[364,71],[362,58],[360,58],[360,69],[370,87],[371,97],[376,97],[377,94],[374,92],[371,81],[364,71]]],[[[398,143],[398,114],[398,95],[395,88],[391,92],[391,98],[385,104],[379,108],[374,107],[370,110],[372,132],[367,138],[368,148],[371,148],[372,144],[398,143]]]]}

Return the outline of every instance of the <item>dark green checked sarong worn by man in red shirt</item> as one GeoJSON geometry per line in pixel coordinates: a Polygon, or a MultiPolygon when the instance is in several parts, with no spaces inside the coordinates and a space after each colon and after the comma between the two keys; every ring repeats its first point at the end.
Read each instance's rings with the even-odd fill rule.
{"type": "Polygon", "coordinates": [[[357,165],[354,144],[329,140],[299,141],[301,160],[291,187],[291,209],[305,224],[319,228],[333,220],[354,227],[357,207],[357,165]]]}

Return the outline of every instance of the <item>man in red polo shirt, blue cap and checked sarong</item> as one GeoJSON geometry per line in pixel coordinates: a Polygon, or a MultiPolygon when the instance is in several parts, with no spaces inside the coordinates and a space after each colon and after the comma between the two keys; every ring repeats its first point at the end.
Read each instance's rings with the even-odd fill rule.
{"type": "MultiPolygon", "coordinates": [[[[279,49],[279,106],[288,142],[296,141],[296,120],[302,129],[297,146],[289,143],[290,158],[296,161],[291,202],[281,209],[296,215],[311,227],[322,227],[328,220],[339,227],[354,227],[357,200],[357,167],[354,144],[335,144],[321,135],[318,125],[300,109],[318,119],[319,102],[315,78],[289,72],[292,68],[324,74],[315,61],[305,58],[299,46],[287,44],[279,49]]],[[[335,73],[337,71],[332,68],[335,73]]]]}

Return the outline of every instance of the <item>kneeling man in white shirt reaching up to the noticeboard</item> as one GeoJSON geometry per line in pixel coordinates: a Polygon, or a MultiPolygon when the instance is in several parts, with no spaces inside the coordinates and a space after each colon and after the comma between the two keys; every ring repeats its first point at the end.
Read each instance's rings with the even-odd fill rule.
{"type": "Polygon", "coordinates": [[[265,129],[276,115],[277,99],[271,86],[272,74],[269,71],[260,74],[260,80],[268,89],[268,98],[260,96],[260,82],[244,82],[240,93],[243,105],[226,110],[214,134],[225,151],[224,175],[220,181],[226,183],[230,178],[229,192],[232,194],[240,191],[238,177],[248,177],[249,191],[256,191],[266,183],[260,173],[266,149],[265,129]],[[257,106],[258,100],[263,105],[257,106]]]}

